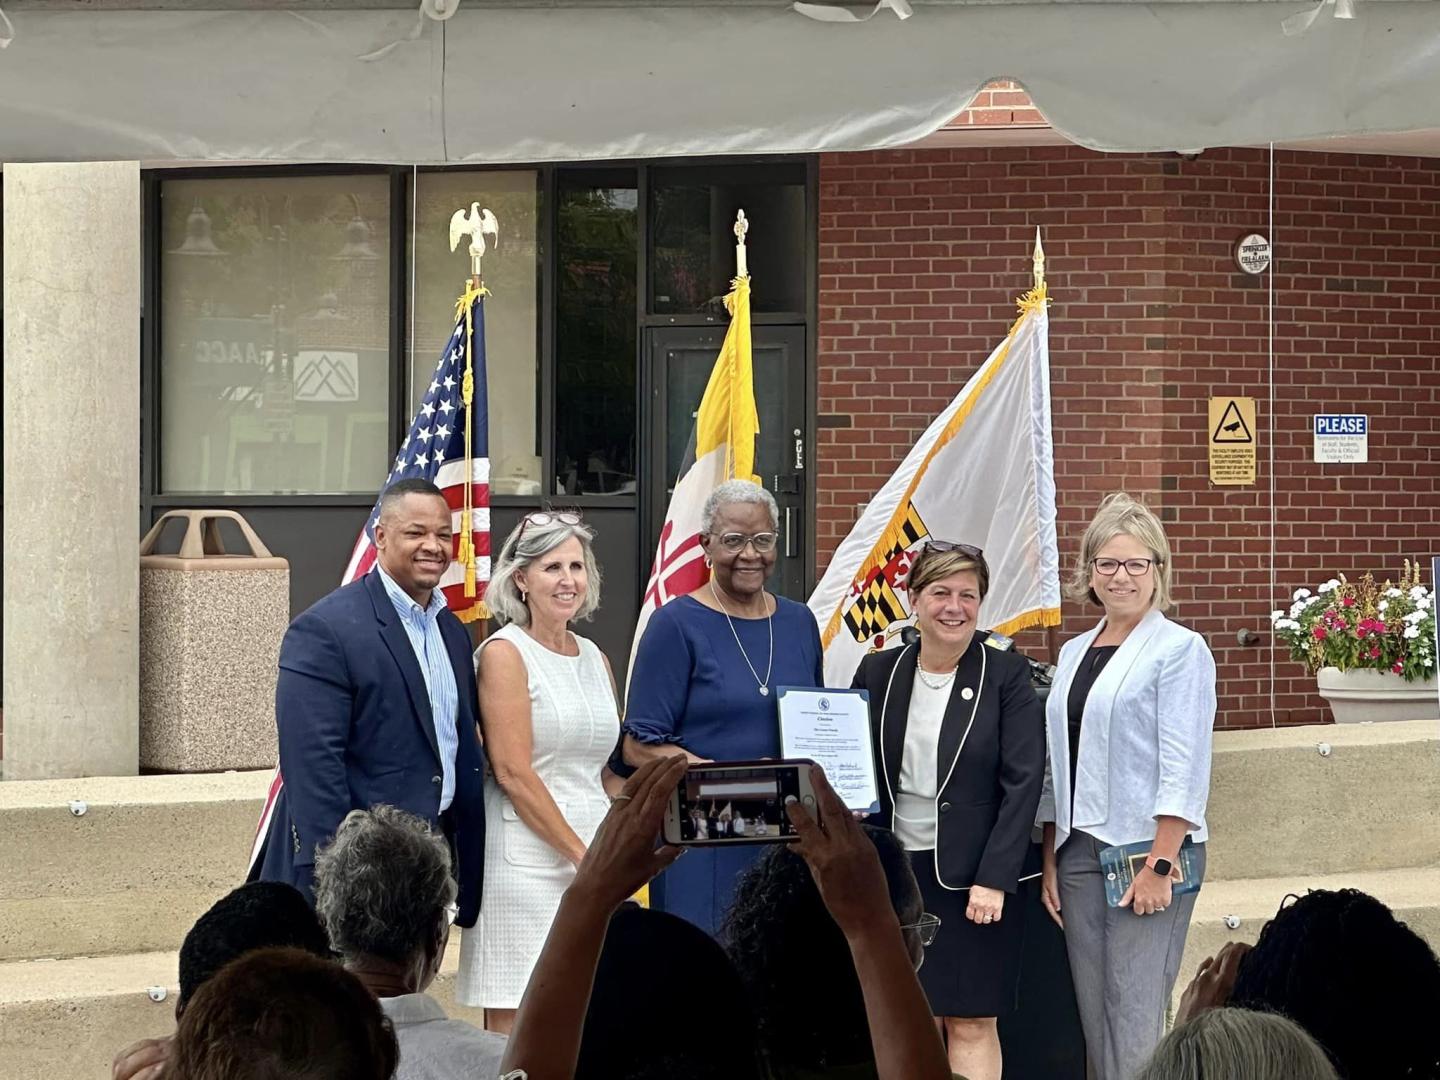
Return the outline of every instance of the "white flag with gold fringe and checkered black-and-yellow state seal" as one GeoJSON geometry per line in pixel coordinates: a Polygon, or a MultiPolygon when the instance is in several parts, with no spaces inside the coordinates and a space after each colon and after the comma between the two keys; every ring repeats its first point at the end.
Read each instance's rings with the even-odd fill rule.
{"type": "Polygon", "coordinates": [[[913,624],[906,583],[927,540],[985,552],[982,629],[1060,624],[1043,264],[1037,236],[1035,288],[1018,301],[1020,318],[870,501],[811,595],[827,685],[848,687],[867,652],[913,624]]]}

